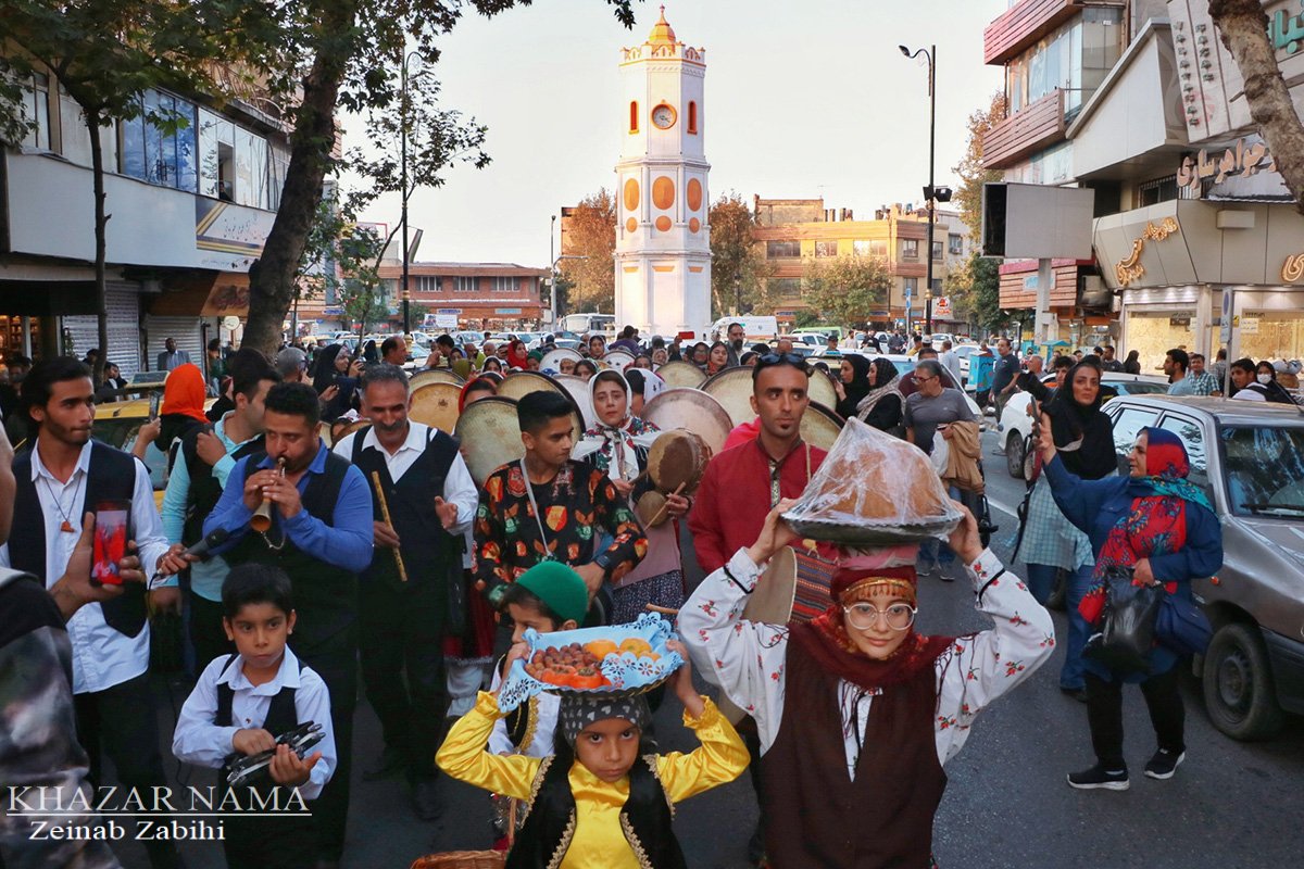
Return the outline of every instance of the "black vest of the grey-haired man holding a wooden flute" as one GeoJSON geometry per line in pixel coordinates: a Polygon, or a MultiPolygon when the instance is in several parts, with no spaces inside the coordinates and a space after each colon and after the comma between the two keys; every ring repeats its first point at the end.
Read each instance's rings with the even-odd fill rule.
{"type": "MultiPolygon", "coordinates": [[[[449,581],[449,568],[459,550],[454,538],[439,522],[434,512],[434,499],[443,495],[443,483],[449,469],[458,457],[458,442],[436,429],[426,438],[421,456],[408,468],[398,482],[390,477],[385,455],[374,448],[363,448],[363,442],[370,426],[353,435],[353,464],[366,477],[368,491],[372,492],[372,515],[382,521],[379,499],[376,496],[373,473],[381,476],[385,500],[390,508],[394,530],[403,542],[403,568],[407,571],[407,588],[425,584],[443,586],[449,581]]],[[[460,568],[460,563],[458,565],[460,568]]],[[[393,554],[377,550],[372,567],[363,575],[366,581],[381,581],[395,588],[403,588],[393,554]]],[[[439,597],[439,599],[445,599],[439,597]]]]}

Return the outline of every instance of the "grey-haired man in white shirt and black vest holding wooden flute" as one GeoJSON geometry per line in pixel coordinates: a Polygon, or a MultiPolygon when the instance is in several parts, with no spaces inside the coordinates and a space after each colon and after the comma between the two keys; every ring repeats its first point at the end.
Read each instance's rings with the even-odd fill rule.
{"type": "Polygon", "coordinates": [[[442,810],[434,753],[449,709],[443,670],[449,578],[462,571],[462,535],[475,519],[479,492],[458,442],[408,420],[402,369],[368,366],[361,399],[372,425],[336,443],[335,455],[373,482],[376,558],[363,575],[359,598],[363,681],[385,730],[385,753],[373,775],[404,770],[417,816],[433,821],[442,810]],[[387,516],[376,496],[377,478],[387,516]],[[403,559],[402,573],[395,554],[403,559]]]}

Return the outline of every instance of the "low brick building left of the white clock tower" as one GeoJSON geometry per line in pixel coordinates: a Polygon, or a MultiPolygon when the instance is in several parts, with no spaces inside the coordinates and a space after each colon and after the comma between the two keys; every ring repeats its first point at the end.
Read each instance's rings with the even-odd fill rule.
{"type": "MultiPolygon", "coordinates": [[[[389,298],[402,298],[403,266],[391,262],[379,271],[381,279],[393,287],[389,298]]],[[[459,328],[535,328],[548,307],[542,298],[548,276],[546,268],[515,263],[409,262],[408,297],[432,318],[456,317],[459,328]]],[[[391,301],[391,307],[396,304],[391,301]]],[[[420,327],[413,319],[413,328],[420,327]]]]}

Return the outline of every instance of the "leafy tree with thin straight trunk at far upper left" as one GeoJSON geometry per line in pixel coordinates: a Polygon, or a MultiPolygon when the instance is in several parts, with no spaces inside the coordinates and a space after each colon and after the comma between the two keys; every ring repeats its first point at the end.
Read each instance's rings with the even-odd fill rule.
{"type": "Polygon", "coordinates": [[[95,383],[103,382],[108,356],[106,228],[112,216],[104,210],[100,130],[115,119],[142,116],[164,132],[184,126],[179,116],[146,108],[142,98],[153,87],[188,91],[202,82],[206,85],[203,90],[220,100],[223,94],[209,81],[206,63],[223,56],[239,27],[261,14],[257,4],[235,3],[228,7],[220,0],[193,4],[168,0],[7,0],[0,12],[0,39],[18,47],[17,51],[7,51],[0,61],[0,81],[4,82],[0,87],[0,129],[5,137],[9,141],[14,135],[21,138],[22,129],[29,126],[17,115],[21,90],[16,79],[27,79],[38,70],[48,72],[77,103],[90,134],[95,306],[100,347],[95,383]]]}

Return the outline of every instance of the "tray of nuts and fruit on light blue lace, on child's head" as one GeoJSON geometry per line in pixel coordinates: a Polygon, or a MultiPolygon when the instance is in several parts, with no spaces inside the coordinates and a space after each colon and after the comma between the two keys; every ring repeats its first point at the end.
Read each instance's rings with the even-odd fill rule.
{"type": "Polygon", "coordinates": [[[638,694],[664,683],[683,666],[666,649],[670,623],[655,612],[638,621],[557,633],[527,631],[526,659],[512,662],[498,692],[501,709],[514,709],[540,692],[638,694]]]}

